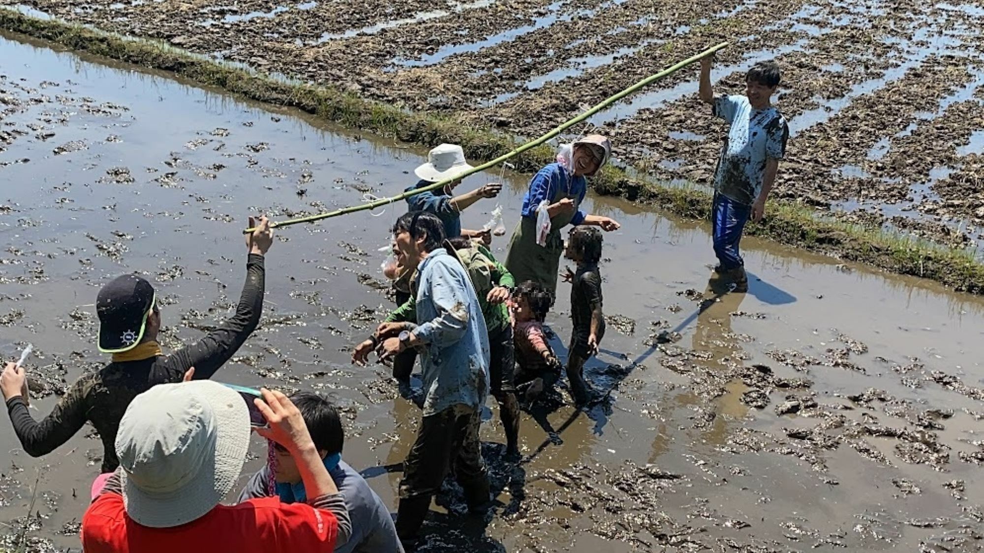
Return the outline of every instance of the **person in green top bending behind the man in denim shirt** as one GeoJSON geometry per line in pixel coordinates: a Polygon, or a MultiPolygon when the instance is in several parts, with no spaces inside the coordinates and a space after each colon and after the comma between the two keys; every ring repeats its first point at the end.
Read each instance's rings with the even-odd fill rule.
{"type": "MultiPolygon", "coordinates": [[[[520,405],[514,385],[516,354],[513,326],[506,305],[510,289],[516,282],[506,267],[479,240],[450,238],[444,241],[444,246],[448,253],[454,253],[461,262],[478,296],[489,333],[490,384],[492,395],[499,402],[499,416],[506,432],[506,455],[517,457],[520,455],[520,405]]],[[[416,290],[400,308],[387,316],[386,322],[380,325],[372,337],[356,347],[353,360],[364,363],[381,340],[397,336],[413,325],[416,321],[415,292],[416,290]]]]}

